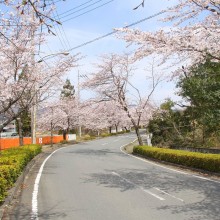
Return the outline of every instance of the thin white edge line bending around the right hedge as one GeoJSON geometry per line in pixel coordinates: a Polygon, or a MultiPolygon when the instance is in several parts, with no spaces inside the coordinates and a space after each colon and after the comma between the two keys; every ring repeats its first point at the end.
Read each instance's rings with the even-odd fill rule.
{"type": "MultiPolygon", "coordinates": [[[[134,141],[132,141],[130,144],[134,143],[136,140],[137,140],[137,139],[135,139],[134,141]]],[[[152,165],[155,165],[155,166],[158,166],[158,167],[162,167],[162,168],[164,168],[164,169],[167,169],[167,170],[170,170],[170,171],[173,171],[173,172],[176,172],[176,173],[181,173],[181,174],[184,174],[184,175],[189,175],[189,176],[192,176],[192,177],[195,177],[195,178],[199,178],[199,179],[202,179],[202,180],[206,180],[206,181],[210,181],[210,182],[214,182],[214,183],[219,183],[219,184],[220,184],[220,182],[217,181],[217,180],[212,180],[212,179],[209,179],[209,178],[206,178],[206,177],[197,176],[197,175],[189,174],[189,173],[186,173],[186,172],[183,172],[183,171],[179,171],[179,170],[176,170],[176,169],[168,168],[168,167],[166,167],[166,166],[163,166],[163,165],[160,165],[160,164],[157,164],[157,163],[148,161],[147,159],[142,159],[142,158],[140,158],[140,157],[137,157],[137,156],[128,154],[128,153],[126,153],[126,152],[124,152],[124,151],[122,150],[122,148],[126,147],[127,145],[128,145],[128,144],[125,144],[125,145],[121,146],[121,147],[120,147],[120,150],[121,150],[122,153],[124,153],[124,154],[126,154],[126,155],[128,155],[128,156],[130,156],[130,157],[136,158],[136,159],[141,160],[141,161],[143,161],[143,162],[145,162],[145,163],[149,163],[149,164],[152,164],[152,165]]]]}

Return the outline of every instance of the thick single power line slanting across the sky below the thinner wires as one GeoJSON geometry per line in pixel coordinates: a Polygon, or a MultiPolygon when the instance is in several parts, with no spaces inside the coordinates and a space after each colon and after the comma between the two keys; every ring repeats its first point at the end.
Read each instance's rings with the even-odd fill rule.
{"type": "MultiPolygon", "coordinates": [[[[158,12],[158,13],[156,13],[156,14],[153,14],[153,15],[151,15],[151,16],[149,16],[149,17],[143,18],[143,19],[141,19],[141,20],[139,20],[139,21],[136,21],[136,22],[134,22],[134,23],[132,23],[132,24],[126,25],[126,26],[124,26],[123,28],[129,28],[129,27],[135,26],[135,25],[140,24],[140,23],[142,23],[142,22],[144,22],[144,21],[147,21],[147,20],[149,20],[149,19],[151,19],[151,18],[157,17],[157,16],[159,16],[159,15],[161,15],[161,14],[163,14],[163,13],[165,13],[165,11],[160,11],[160,12],[158,12]]],[[[113,35],[113,34],[115,34],[115,33],[117,33],[117,32],[118,32],[118,30],[114,30],[114,31],[112,31],[112,32],[110,32],[110,33],[107,33],[107,34],[102,35],[102,36],[100,36],[100,37],[97,37],[97,38],[95,38],[95,39],[93,39],[93,40],[87,41],[87,42],[85,42],[85,43],[83,43],[83,44],[80,44],[80,45],[78,45],[78,46],[76,46],[76,47],[73,47],[73,48],[69,49],[68,51],[76,50],[76,49],[78,49],[78,48],[80,48],[80,47],[83,47],[83,46],[88,45],[88,44],[91,44],[91,43],[93,43],[93,42],[95,42],[95,41],[98,41],[98,40],[101,40],[101,39],[103,39],[103,38],[106,38],[106,37],[108,37],[108,36],[110,36],[110,35],[113,35]]]]}

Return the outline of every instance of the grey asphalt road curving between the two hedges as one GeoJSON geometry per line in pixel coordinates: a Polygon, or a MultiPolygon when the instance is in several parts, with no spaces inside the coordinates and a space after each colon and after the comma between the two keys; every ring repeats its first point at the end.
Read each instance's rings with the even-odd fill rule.
{"type": "Polygon", "coordinates": [[[134,138],[109,137],[55,152],[37,188],[40,165],[28,177],[10,219],[220,219],[220,182],[121,152],[134,138]]]}

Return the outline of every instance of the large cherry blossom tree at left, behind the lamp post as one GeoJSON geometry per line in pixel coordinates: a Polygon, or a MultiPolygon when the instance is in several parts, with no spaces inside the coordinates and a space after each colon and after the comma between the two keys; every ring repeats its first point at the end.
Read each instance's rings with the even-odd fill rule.
{"type": "MultiPolygon", "coordinates": [[[[17,17],[11,15],[17,22],[17,17]]],[[[3,23],[7,21],[2,21],[3,23]]],[[[31,26],[1,26],[7,38],[0,38],[0,114],[7,120],[0,125],[0,131],[16,119],[24,109],[37,104],[36,97],[45,99],[50,90],[56,87],[70,68],[76,66],[77,56],[60,55],[51,62],[37,62],[34,59],[36,45],[42,35],[32,36],[37,23],[28,16],[22,22],[36,24],[31,26]],[[26,20],[25,20],[26,19],[26,20]],[[9,39],[9,40],[8,40],[9,39]]],[[[39,100],[39,99],[38,99],[39,100]]]]}

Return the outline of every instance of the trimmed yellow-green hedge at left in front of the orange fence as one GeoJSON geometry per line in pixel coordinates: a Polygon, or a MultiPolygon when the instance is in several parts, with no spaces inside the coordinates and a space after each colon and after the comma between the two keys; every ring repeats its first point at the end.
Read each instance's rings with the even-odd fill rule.
{"type": "Polygon", "coordinates": [[[4,150],[0,154],[0,202],[13,186],[27,163],[41,152],[40,145],[27,145],[4,150]]]}

